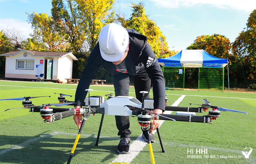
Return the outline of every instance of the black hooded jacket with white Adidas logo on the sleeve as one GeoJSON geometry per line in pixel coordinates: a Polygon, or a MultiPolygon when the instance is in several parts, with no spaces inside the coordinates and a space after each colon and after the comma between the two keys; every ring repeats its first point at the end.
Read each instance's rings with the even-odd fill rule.
{"type": "MultiPolygon", "coordinates": [[[[140,70],[146,70],[153,84],[154,109],[165,109],[165,79],[161,67],[155,57],[153,50],[147,43],[146,36],[139,34],[133,29],[127,29],[129,34],[129,51],[125,59],[127,72],[136,75],[140,70]]],[[[116,66],[101,57],[99,43],[93,48],[88,61],[82,71],[75,94],[75,102],[78,106],[83,104],[89,89],[91,80],[95,78],[99,67],[103,67],[108,73],[117,73],[116,66]]]]}

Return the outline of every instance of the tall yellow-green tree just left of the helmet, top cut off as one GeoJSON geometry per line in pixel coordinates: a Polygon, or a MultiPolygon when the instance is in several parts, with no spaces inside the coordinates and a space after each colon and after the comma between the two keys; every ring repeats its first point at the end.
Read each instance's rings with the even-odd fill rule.
{"type": "Polygon", "coordinates": [[[113,22],[114,0],[67,0],[66,4],[63,0],[52,1],[54,24],[66,36],[73,52],[89,53],[97,43],[101,28],[113,22]]]}

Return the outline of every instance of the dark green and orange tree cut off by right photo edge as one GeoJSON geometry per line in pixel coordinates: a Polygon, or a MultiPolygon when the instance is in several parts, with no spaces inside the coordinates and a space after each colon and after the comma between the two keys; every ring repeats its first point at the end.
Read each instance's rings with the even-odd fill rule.
{"type": "Polygon", "coordinates": [[[256,89],[256,9],[250,14],[246,26],[232,45],[231,58],[233,68],[243,71],[237,74],[231,68],[231,74],[238,83],[256,89]]]}

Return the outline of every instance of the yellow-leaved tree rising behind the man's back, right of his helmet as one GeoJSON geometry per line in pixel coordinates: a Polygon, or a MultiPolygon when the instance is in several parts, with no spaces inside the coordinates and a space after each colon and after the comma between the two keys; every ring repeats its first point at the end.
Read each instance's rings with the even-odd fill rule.
{"type": "Polygon", "coordinates": [[[124,15],[120,16],[119,14],[117,16],[118,21],[123,27],[132,28],[140,34],[147,36],[147,42],[157,58],[166,58],[177,53],[176,51],[169,50],[165,36],[155,22],[145,14],[142,2],[138,5],[132,3],[132,15],[129,19],[126,20],[124,15]]]}

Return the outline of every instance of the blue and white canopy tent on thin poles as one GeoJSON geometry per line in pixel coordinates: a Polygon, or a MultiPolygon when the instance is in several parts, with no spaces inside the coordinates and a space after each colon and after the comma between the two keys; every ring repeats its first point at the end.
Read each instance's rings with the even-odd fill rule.
{"type": "MultiPolygon", "coordinates": [[[[200,72],[200,68],[201,70],[203,70],[202,69],[203,67],[207,67],[207,68],[224,68],[225,66],[228,67],[227,59],[216,58],[208,54],[204,50],[181,50],[176,55],[170,56],[168,58],[158,59],[158,62],[160,63],[160,65],[163,66],[162,67],[163,72],[166,67],[184,67],[184,68],[196,67],[196,68],[199,68],[199,72],[200,72]]],[[[223,70],[223,73],[222,73],[222,90],[223,90],[224,89],[224,79],[223,79],[224,69],[222,70],[223,70]]],[[[181,69],[179,69],[179,73],[181,73],[181,69]]],[[[177,75],[175,76],[177,77],[177,75]]],[[[214,77],[210,77],[210,78],[214,78],[214,77]]],[[[173,79],[171,81],[173,81],[173,79]]],[[[207,79],[207,81],[209,81],[209,79],[207,79]]],[[[201,82],[203,82],[203,79],[201,79],[201,82]]],[[[169,82],[167,85],[169,85],[169,82]]],[[[173,86],[174,86],[174,82],[173,82],[173,86]]],[[[183,86],[183,89],[184,89],[184,86],[183,86]]],[[[200,89],[200,74],[199,74],[199,89],[200,89]]]]}

